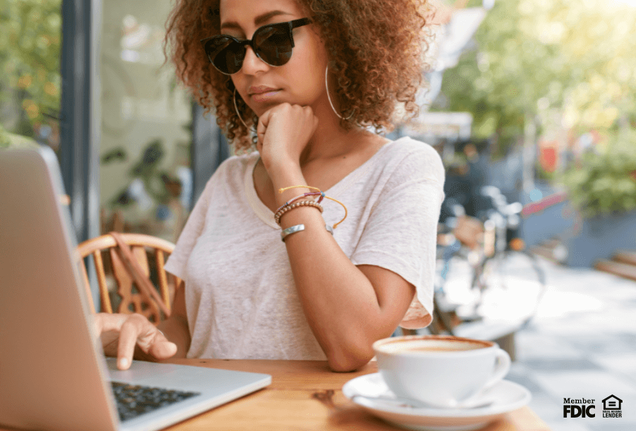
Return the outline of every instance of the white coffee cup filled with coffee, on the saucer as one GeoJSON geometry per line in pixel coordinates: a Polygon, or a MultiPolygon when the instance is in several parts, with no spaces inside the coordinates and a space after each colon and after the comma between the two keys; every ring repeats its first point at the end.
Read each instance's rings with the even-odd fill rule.
{"type": "Polygon", "coordinates": [[[396,396],[437,408],[469,406],[510,370],[510,356],[491,341],[402,336],[376,341],[373,349],[396,396]]]}

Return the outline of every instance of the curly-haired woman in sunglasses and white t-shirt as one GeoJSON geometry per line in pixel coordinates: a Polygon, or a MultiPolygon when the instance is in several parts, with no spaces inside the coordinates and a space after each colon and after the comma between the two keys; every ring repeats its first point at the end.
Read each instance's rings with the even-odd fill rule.
{"type": "Polygon", "coordinates": [[[178,2],[167,33],[177,74],[238,153],[257,152],[226,160],[196,203],[166,265],[184,284],[161,331],[98,315],[120,368],[137,345],[138,357],[349,371],[399,324],[430,323],[442,164],[424,143],[369,131],[390,129],[399,104],[417,110],[422,7],[178,2]]]}

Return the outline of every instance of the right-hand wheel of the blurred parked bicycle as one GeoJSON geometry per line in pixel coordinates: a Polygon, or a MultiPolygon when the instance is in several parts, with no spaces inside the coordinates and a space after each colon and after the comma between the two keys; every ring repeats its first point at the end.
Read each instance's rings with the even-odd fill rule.
{"type": "Polygon", "coordinates": [[[546,276],[534,254],[508,250],[485,261],[478,314],[526,325],[546,291],[546,276]]]}

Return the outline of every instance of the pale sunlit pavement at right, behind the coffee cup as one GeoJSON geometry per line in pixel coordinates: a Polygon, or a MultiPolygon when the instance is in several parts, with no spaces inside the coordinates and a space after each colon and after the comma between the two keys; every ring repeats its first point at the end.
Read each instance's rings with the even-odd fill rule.
{"type": "Polygon", "coordinates": [[[636,430],[636,282],[542,260],[548,290],[531,325],[517,333],[509,380],[553,431],[636,430]],[[603,418],[620,398],[621,418],[603,418]],[[594,418],[563,418],[564,398],[594,399],[594,418]]]}

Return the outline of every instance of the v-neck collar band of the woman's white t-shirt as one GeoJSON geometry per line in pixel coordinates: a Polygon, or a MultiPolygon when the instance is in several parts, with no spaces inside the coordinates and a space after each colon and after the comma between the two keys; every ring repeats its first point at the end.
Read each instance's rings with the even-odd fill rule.
{"type": "MultiPolygon", "coordinates": [[[[382,147],[379,148],[379,150],[375,152],[374,155],[372,155],[367,161],[365,161],[365,163],[356,167],[353,171],[349,172],[343,179],[336,182],[336,184],[331,186],[328,190],[324,190],[325,194],[336,198],[336,196],[348,189],[348,186],[351,182],[355,181],[355,179],[358,179],[358,177],[372,168],[381,153],[384,153],[385,151],[387,151],[387,148],[404,138],[406,138],[406,136],[404,136],[403,138],[399,138],[396,141],[385,143],[382,147]]],[[[268,225],[270,228],[280,230],[281,227],[278,226],[274,221],[274,213],[269,208],[267,208],[263,201],[261,201],[259,195],[257,194],[256,187],[254,187],[254,168],[256,167],[259,159],[260,156],[258,151],[254,151],[254,153],[251,153],[249,155],[249,160],[247,162],[247,167],[245,169],[245,174],[243,177],[243,188],[245,189],[245,197],[247,199],[247,203],[249,203],[249,206],[252,207],[254,213],[263,221],[263,223],[268,225]]]]}

